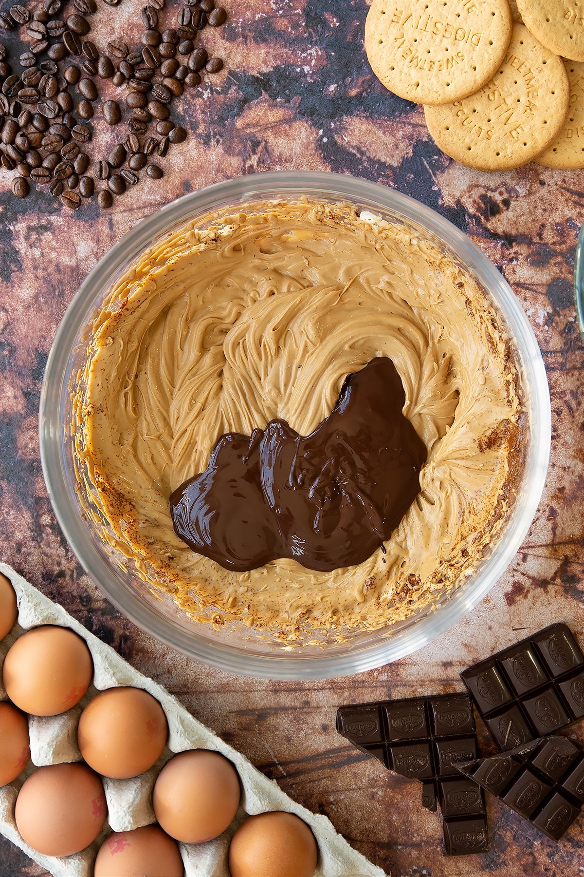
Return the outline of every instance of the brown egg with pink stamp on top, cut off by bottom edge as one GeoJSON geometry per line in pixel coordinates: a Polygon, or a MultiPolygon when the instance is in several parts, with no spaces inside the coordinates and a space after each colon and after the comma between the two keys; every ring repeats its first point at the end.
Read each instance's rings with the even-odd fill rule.
{"type": "Polygon", "coordinates": [[[179,845],[158,825],[114,831],[95,859],[94,877],[183,877],[179,845]]]}

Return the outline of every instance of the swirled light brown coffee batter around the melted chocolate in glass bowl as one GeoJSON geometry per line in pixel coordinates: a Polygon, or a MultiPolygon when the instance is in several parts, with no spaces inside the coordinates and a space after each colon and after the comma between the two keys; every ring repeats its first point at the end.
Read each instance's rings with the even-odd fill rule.
{"type": "Polygon", "coordinates": [[[517,367],[493,306],[438,247],[347,205],[257,203],[152,246],[95,318],[74,391],[80,493],[102,537],[194,617],[286,642],[445,595],[496,540],[521,469],[517,367]],[[376,356],[428,449],[384,551],[332,573],[276,560],[242,574],[174,534],[169,496],[222,433],[281,417],[306,435],[376,356]]]}

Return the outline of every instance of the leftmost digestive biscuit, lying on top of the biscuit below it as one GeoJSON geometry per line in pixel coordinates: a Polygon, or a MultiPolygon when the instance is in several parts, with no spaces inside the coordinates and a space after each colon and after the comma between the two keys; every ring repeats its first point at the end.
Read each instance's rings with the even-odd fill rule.
{"type": "Polygon", "coordinates": [[[365,50],[394,94],[415,103],[452,103],[489,82],[511,26],[507,0],[373,0],[365,50]]]}

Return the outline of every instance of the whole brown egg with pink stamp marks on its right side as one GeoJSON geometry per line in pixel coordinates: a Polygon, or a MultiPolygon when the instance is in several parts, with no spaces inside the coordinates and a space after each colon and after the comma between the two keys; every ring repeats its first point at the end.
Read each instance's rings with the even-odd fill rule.
{"type": "Polygon", "coordinates": [[[107,813],[102,781],[76,763],[39,767],[31,774],[18,793],[15,818],[33,850],[70,856],[95,840],[107,813]]]}

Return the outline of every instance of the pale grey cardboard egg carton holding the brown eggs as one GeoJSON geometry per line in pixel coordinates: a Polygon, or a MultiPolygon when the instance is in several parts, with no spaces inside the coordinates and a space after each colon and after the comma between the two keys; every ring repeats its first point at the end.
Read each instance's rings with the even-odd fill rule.
{"type": "Polygon", "coordinates": [[[236,818],[219,838],[205,844],[179,844],[185,866],[185,877],[229,877],[227,864],[229,841],[246,816],[266,810],[286,810],[295,813],[310,825],[319,845],[319,863],[314,877],[383,877],[381,868],[365,859],[341,838],[326,816],[315,815],[292,801],[278,783],[261,774],[241,752],[237,752],[204,724],[198,722],[170,695],[165,688],[130,667],[117,652],[89,633],[57,603],[41,594],[11,567],[0,563],[0,573],[12,582],[18,599],[18,622],[0,642],[0,700],[7,695],[2,684],[2,665],[12,643],[22,634],[39,624],[59,624],[78,633],[88,644],[95,674],[87,693],[73,709],[60,716],[29,716],[31,762],[17,781],[0,788],[0,833],[24,850],[40,866],[55,877],[92,877],[95,854],[110,831],[130,831],[156,822],[151,804],[152,788],[165,762],[176,752],[186,749],[212,749],[221,752],[235,766],[242,784],[241,806],[236,818]],[[169,736],[165,751],[158,762],[145,774],[130,780],[103,778],[108,802],[108,819],[94,843],[73,856],[46,856],[32,850],[18,833],[14,819],[18,790],[35,767],[81,761],[77,745],[77,724],[81,711],[98,691],[115,686],[131,685],[144,688],[157,699],[165,710],[169,736]]]}

